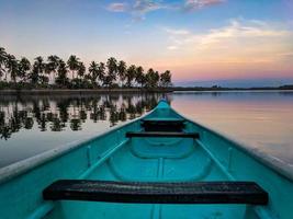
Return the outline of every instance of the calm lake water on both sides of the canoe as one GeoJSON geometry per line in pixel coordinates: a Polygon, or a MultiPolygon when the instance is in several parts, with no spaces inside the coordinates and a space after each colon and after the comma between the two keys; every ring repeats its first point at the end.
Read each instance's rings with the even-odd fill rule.
{"type": "Polygon", "coordinates": [[[91,137],[167,97],[181,114],[293,164],[293,92],[0,96],[0,166],[91,137]]]}

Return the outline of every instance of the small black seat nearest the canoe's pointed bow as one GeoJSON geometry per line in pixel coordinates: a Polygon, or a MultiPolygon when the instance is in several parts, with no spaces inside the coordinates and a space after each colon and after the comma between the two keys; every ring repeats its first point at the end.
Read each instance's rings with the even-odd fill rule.
{"type": "Polygon", "coordinates": [[[185,127],[183,119],[178,120],[148,120],[142,119],[145,131],[182,131],[185,127]]]}

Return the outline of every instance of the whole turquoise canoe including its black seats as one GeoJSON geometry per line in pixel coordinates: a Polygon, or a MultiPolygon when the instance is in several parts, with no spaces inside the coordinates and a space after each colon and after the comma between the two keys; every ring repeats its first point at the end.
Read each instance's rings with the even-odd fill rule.
{"type": "MultiPolygon", "coordinates": [[[[42,142],[40,142],[42,143],[42,142]]],[[[172,110],[0,170],[0,218],[293,218],[285,166],[172,110]]]]}

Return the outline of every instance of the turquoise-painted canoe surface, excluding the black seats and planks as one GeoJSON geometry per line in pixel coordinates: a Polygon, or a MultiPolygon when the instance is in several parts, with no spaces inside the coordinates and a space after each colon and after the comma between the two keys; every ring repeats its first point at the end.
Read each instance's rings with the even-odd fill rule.
{"type": "MultiPolygon", "coordinates": [[[[161,101],[148,119],[187,119],[161,101]]],[[[201,138],[133,138],[139,119],[0,170],[0,218],[293,218],[292,174],[270,159],[187,119],[201,138]],[[142,205],[44,201],[42,191],[59,178],[112,181],[255,181],[269,205],[142,205]]]]}

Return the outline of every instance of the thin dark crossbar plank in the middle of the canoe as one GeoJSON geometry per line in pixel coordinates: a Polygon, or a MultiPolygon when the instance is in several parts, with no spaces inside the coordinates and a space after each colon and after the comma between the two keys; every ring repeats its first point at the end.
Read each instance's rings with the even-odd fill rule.
{"type": "Polygon", "coordinates": [[[199,138],[198,132],[169,132],[169,131],[145,131],[145,132],[126,132],[127,138],[133,137],[167,137],[167,138],[199,138]]]}

